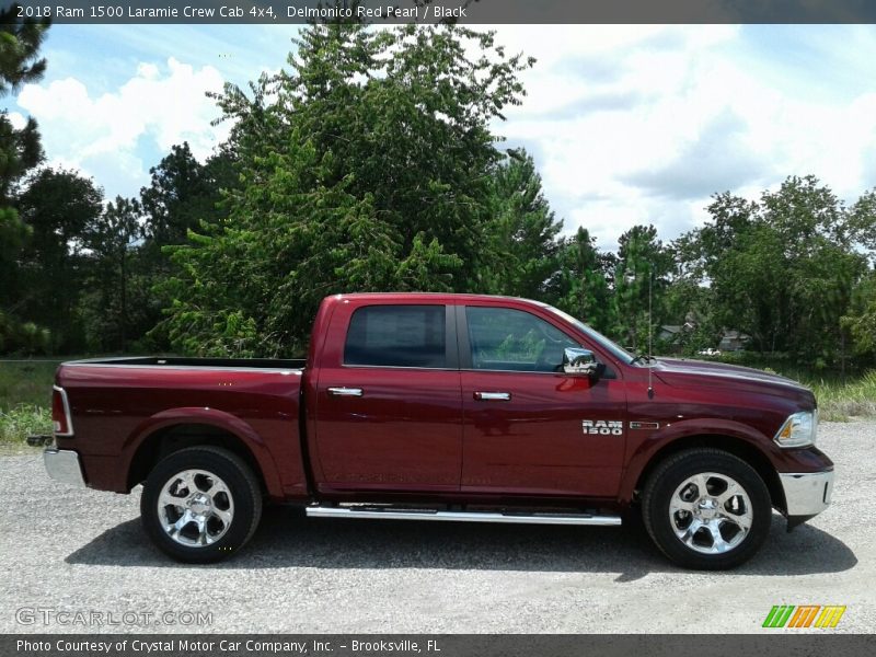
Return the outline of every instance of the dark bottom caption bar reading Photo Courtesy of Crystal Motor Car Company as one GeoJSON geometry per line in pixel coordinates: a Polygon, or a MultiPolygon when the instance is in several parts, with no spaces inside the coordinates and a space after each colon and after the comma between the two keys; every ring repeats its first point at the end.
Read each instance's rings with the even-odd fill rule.
{"type": "Polygon", "coordinates": [[[0,636],[4,657],[871,657],[874,635],[48,634],[0,636]]]}

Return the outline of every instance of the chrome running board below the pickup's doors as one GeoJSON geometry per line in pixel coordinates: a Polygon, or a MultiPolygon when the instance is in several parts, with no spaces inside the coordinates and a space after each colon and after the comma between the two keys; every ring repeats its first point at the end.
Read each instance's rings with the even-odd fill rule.
{"type": "Polygon", "coordinates": [[[522,525],[591,525],[619,527],[619,516],[590,516],[588,514],[522,514],[485,511],[438,511],[435,509],[397,509],[381,507],[309,506],[311,518],[379,518],[382,520],[445,520],[451,522],[514,522],[522,525]]]}

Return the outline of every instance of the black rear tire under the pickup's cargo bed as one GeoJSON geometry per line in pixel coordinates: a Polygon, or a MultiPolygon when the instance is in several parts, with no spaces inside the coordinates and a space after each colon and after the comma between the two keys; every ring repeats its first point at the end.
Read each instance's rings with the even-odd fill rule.
{"type": "Polygon", "coordinates": [[[262,493],[252,470],[237,454],[217,447],[192,447],[168,456],[149,473],[140,497],[140,518],[146,533],[162,552],[181,562],[212,563],[231,556],[255,533],[262,518],[262,493]],[[184,475],[197,489],[186,487],[184,475]],[[165,486],[174,499],[180,495],[180,506],[160,508],[165,486]],[[207,495],[218,488],[215,496],[207,495]],[[205,496],[194,500],[195,506],[187,506],[201,492],[205,496]],[[195,515],[183,518],[186,510],[195,515]],[[230,520],[224,522],[220,514],[230,520]],[[172,522],[174,519],[177,523],[172,522]],[[174,527],[181,525],[176,538],[164,529],[165,520],[174,527]],[[201,527],[206,529],[199,531],[201,527]]]}

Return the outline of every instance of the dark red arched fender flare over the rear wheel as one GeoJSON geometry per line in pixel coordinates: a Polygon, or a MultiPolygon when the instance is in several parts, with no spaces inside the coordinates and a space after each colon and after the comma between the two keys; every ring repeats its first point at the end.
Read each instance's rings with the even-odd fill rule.
{"type": "Polygon", "coordinates": [[[258,463],[268,494],[272,497],[283,496],[283,486],[274,457],[255,429],[235,415],[203,406],[169,408],[155,413],[137,425],[122,446],[120,460],[126,476],[130,472],[135,454],[146,440],[155,431],[180,425],[207,425],[235,436],[258,463]]]}

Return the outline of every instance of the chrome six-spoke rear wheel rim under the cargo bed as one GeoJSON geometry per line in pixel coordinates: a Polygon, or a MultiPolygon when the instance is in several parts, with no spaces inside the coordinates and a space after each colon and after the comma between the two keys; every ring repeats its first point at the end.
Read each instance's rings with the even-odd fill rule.
{"type": "Polygon", "coordinates": [[[234,499],[228,485],[206,470],[184,470],[161,488],[158,517],[166,534],[189,548],[221,539],[234,518],[234,499]]]}

